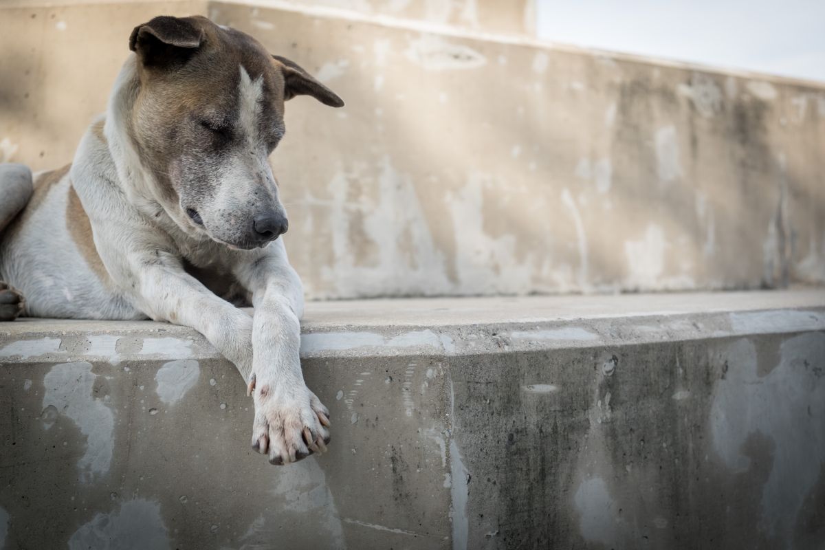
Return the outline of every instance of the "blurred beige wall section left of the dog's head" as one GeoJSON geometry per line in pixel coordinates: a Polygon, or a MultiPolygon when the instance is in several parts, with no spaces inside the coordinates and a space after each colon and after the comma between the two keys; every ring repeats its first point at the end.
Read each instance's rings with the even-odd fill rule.
{"type": "Polygon", "coordinates": [[[35,170],[71,162],[92,117],[106,110],[134,26],[205,10],[205,2],[188,0],[26,3],[0,3],[0,162],[35,170]]]}

